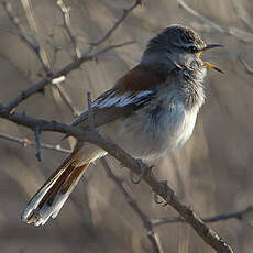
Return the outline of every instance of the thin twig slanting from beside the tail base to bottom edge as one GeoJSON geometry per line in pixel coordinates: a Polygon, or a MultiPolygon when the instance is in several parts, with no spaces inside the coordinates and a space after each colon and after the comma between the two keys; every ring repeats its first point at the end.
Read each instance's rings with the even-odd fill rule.
{"type": "Polygon", "coordinates": [[[107,163],[107,160],[105,157],[100,158],[105,170],[107,172],[107,175],[109,178],[111,178],[114,184],[119,187],[120,191],[123,194],[128,205],[132,208],[132,210],[140,217],[142,220],[142,223],[144,228],[146,229],[147,238],[150,239],[154,252],[162,253],[163,249],[161,245],[161,242],[158,240],[158,237],[156,232],[154,231],[153,223],[150,221],[148,217],[141,210],[138,202],[131,197],[131,195],[125,190],[122,182],[112,173],[110,166],[107,163]]]}

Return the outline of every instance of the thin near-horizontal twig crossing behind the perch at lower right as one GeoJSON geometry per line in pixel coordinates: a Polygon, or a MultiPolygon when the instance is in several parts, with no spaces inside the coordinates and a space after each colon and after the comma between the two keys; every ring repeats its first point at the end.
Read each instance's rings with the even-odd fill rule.
{"type": "MultiPolygon", "coordinates": [[[[228,212],[228,213],[221,213],[221,215],[213,216],[213,217],[202,218],[202,221],[207,223],[211,223],[211,222],[218,222],[218,221],[223,221],[223,220],[229,220],[229,219],[242,220],[244,216],[250,212],[253,212],[252,206],[249,206],[248,208],[241,211],[237,211],[237,212],[228,212]]],[[[176,222],[186,222],[186,220],[183,219],[182,217],[160,218],[156,220],[152,220],[152,224],[154,227],[167,224],[167,223],[176,223],[176,222]]]]}

